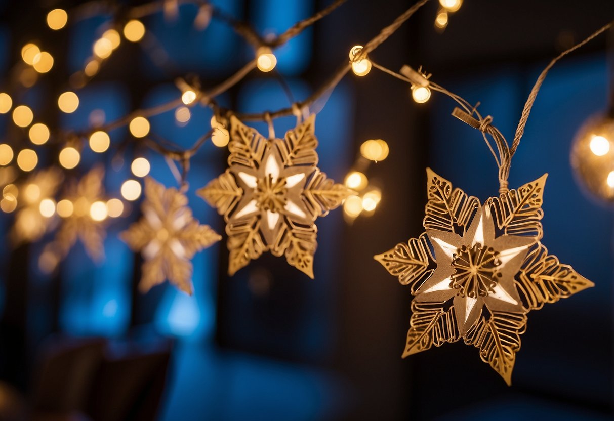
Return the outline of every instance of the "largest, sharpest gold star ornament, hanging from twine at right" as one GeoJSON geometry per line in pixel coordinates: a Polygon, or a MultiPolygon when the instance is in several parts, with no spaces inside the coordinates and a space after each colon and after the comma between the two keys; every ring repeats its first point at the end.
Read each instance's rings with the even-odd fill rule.
{"type": "Polygon", "coordinates": [[[426,232],[375,256],[414,296],[403,357],[462,338],[510,385],[527,313],[594,286],[540,242],[546,176],[481,204],[427,169],[426,232]]]}

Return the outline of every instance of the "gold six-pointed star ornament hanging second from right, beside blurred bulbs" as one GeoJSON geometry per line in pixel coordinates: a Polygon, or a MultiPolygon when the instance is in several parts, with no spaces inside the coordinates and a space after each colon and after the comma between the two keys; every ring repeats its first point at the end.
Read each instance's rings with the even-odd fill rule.
{"type": "Polygon", "coordinates": [[[316,218],[354,193],[317,168],[314,123],[267,140],[230,117],[230,168],[198,191],[227,223],[228,274],[271,252],[313,279],[316,218]]]}

